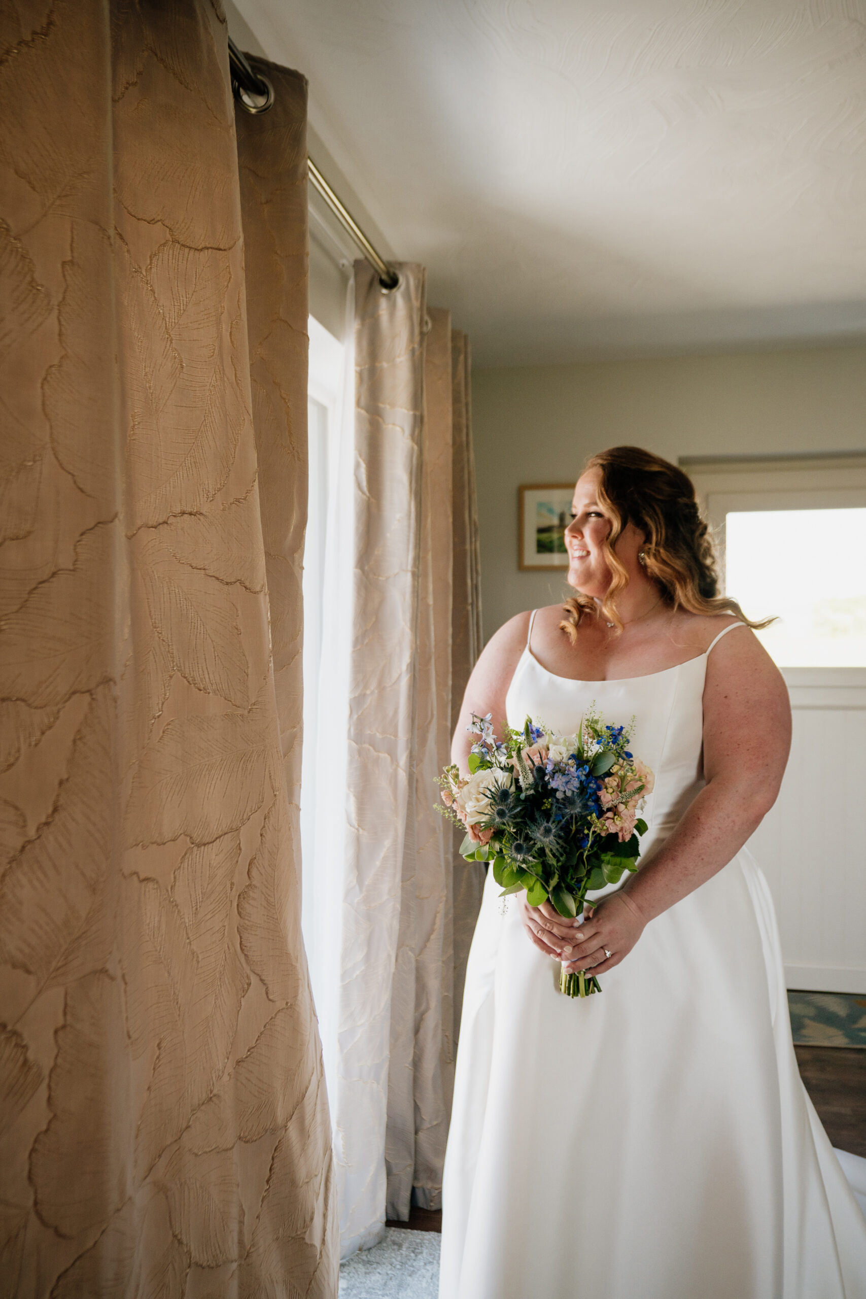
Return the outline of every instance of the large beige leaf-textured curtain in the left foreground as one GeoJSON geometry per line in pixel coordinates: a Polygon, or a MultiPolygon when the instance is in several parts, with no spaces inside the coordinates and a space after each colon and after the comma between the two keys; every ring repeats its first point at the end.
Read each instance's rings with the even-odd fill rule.
{"type": "Polygon", "coordinates": [[[10,1295],[336,1293],[293,860],[305,86],[269,75],[236,142],[217,5],[4,18],[10,1295]]]}

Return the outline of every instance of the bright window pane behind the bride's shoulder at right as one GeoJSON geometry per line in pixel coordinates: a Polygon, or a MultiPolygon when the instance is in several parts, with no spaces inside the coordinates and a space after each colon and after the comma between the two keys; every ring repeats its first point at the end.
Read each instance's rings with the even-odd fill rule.
{"type": "Polygon", "coordinates": [[[866,509],[732,512],[724,570],[780,668],[866,668],[866,509]]]}

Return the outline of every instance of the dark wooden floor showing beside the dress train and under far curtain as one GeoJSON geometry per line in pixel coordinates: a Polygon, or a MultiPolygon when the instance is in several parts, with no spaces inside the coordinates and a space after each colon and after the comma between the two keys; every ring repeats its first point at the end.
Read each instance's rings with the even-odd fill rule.
{"type": "MultiPolygon", "coordinates": [[[[811,1103],[839,1150],[866,1157],[866,1051],[844,1047],[795,1047],[800,1076],[811,1103]]],[[[388,1226],[441,1231],[441,1213],[412,1208],[408,1222],[388,1226]]]]}

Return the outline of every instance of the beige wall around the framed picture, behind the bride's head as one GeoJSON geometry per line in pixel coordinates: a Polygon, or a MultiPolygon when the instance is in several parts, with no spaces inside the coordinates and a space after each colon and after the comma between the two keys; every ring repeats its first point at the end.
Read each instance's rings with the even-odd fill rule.
{"type": "Polygon", "coordinates": [[[519,483],[567,482],[617,443],[674,461],[866,449],[866,346],[478,369],[473,407],[487,639],[565,587],[518,570],[519,483]]]}

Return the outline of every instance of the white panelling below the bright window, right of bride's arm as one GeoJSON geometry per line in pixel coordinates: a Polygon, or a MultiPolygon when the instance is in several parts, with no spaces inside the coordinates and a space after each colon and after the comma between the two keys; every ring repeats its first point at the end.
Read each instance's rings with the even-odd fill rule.
{"type": "Polygon", "coordinates": [[[793,744],[749,840],[775,902],[788,987],[866,994],[866,668],[786,668],[793,744]]]}

